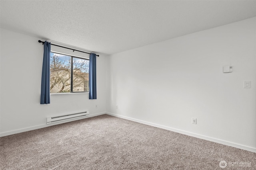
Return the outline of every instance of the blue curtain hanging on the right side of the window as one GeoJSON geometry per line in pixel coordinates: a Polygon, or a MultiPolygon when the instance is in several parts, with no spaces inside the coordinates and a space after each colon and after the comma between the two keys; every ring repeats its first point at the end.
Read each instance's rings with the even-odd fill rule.
{"type": "Polygon", "coordinates": [[[96,54],[90,54],[89,61],[89,99],[97,99],[96,89],[96,54]]]}

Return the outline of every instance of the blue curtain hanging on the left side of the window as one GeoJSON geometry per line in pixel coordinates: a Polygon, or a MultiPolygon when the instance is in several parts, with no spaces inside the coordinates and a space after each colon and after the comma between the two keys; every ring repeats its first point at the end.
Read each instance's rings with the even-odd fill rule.
{"type": "Polygon", "coordinates": [[[50,55],[51,43],[44,41],[40,104],[50,104],[50,55]]]}

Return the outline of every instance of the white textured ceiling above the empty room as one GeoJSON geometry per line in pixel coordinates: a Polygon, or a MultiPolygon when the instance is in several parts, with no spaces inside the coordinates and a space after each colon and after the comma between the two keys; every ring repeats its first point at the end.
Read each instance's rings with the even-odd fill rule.
{"type": "Polygon", "coordinates": [[[0,0],[2,28],[105,54],[254,16],[255,0],[0,0]]]}

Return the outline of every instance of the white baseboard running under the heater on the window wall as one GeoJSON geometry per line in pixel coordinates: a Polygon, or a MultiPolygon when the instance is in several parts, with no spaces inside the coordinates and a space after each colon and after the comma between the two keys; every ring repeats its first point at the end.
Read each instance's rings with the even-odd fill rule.
{"type": "Polygon", "coordinates": [[[70,122],[70,121],[86,119],[86,118],[89,118],[89,117],[94,117],[94,116],[99,116],[99,115],[104,115],[104,114],[106,114],[106,112],[96,113],[96,114],[89,114],[88,116],[85,116],[85,117],[80,117],[80,118],[76,118],[76,119],[71,119],[71,120],[66,120],[66,121],[62,121],[62,122],[52,123],[52,124],[48,124],[48,125],[46,125],[46,123],[45,123],[45,124],[42,124],[42,125],[26,127],[26,128],[17,129],[17,130],[14,130],[14,131],[2,132],[2,133],[0,133],[0,137],[13,135],[13,134],[16,134],[16,133],[22,133],[22,132],[26,132],[26,131],[32,131],[32,130],[41,129],[41,128],[48,127],[48,126],[58,125],[58,124],[61,124],[61,123],[67,123],[67,122],[70,122]]]}

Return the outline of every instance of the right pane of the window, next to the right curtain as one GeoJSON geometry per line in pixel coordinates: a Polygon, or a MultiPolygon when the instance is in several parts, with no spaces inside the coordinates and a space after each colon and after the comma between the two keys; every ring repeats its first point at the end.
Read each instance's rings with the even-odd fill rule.
{"type": "Polygon", "coordinates": [[[73,92],[89,92],[89,60],[73,57],[73,92]]]}

